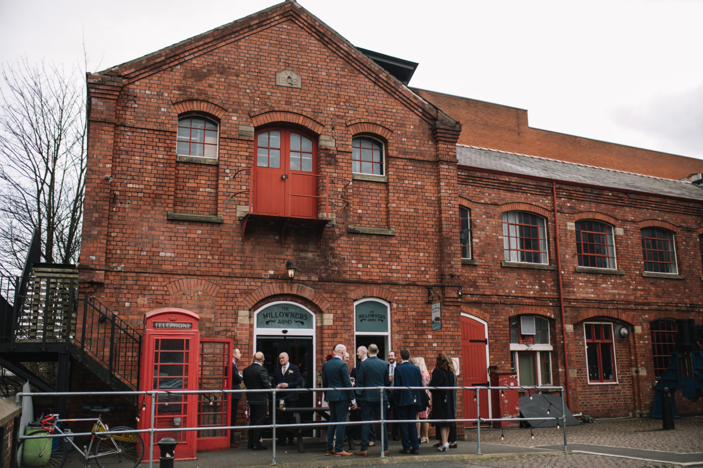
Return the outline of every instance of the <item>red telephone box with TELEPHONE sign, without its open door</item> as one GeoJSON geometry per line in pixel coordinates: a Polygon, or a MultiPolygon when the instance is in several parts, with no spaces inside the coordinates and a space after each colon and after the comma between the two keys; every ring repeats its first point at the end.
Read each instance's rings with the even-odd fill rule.
{"type": "MultiPolygon", "coordinates": [[[[197,390],[200,334],[198,314],[167,307],[147,312],[141,363],[141,390],[197,390]]],[[[139,429],[148,429],[151,401],[145,400],[139,429]]],[[[198,418],[197,394],[160,394],[156,402],[155,427],[195,427],[198,418]]],[[[156,432],[154,460],[159,459],[156,445],[164,437],[176,439],[176,460],[195,459],[195,431],[156,432]]],[[[148,441],[145,441],[148,443],[148,441]]],[[[145,453],[145,458],[148,454],[145,453]]]]}

